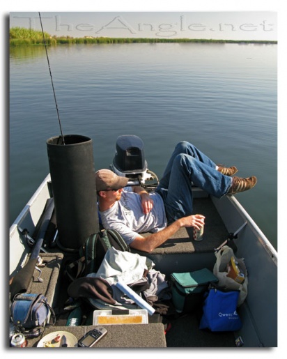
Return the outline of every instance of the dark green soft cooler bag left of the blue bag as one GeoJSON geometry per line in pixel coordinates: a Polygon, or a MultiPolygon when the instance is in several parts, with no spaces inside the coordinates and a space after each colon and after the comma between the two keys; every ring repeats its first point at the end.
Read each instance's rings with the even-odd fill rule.
{"type": "Polygon", "coordinates": [[[192,312],[203,302],[203,295],[210,283],[218,278],[203,268],[188,273],[171,274],[171,293],[176,312],[192,312]]]}

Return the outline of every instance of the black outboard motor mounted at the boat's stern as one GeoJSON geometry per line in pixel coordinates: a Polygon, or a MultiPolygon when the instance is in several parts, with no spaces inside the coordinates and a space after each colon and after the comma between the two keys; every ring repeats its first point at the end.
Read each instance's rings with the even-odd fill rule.
{"type": "Polygon", "coordinates": [[[134,135],[118,137],[116,153],[110,168],[118,176],[129,178],[127,185],[155,188],[159,183],[157,175],[148,169],[142,140],[134,135]]]}

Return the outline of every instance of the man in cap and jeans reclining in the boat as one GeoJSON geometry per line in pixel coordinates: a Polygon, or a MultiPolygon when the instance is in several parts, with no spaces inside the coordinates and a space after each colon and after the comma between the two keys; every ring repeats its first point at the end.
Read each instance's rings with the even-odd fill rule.
{"type": "Polygon", "coordinates": [[[255,176],[231,177],[236,167],[222,167],[189,142],[180,142],[155,192],[125,187],[128,178],[109,169],[95,173],[102,224],[116,229],[130,247],[152,252],[180,227],[200,229],[203,215],[192,214],[192,183],[215,197],[250,190],[255,176]],[[140,233],[151,232],[143,237],[140,233]]]}

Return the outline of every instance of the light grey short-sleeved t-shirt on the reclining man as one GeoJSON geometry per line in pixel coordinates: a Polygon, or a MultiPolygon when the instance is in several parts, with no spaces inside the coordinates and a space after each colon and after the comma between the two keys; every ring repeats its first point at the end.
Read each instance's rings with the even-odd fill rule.
{"type": "Polygon", "coordinates": [[[121,199],[107,211],[100,211],[105,229],[116,229],[126,243],[130,245],[139,233],[157,232],[166,227],[164,202],[160,194],[151,192],[153,209],[144,214],[141,208],[141,196],[132,192],[132,188],[124,188],[121,199]]]}

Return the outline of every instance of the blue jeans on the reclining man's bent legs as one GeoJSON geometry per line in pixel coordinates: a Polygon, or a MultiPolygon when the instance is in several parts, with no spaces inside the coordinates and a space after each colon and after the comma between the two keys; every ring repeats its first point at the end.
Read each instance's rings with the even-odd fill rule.
{"type": "Polygon", "coordinates": [[[176,145],[156,192],[162,196],[167,221],[192,215],[192,183],[215,197],[231,187],[232,178],[216,169],[204,153],[189,142],[176,145]]]}

